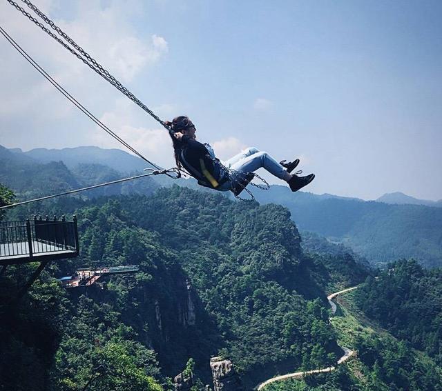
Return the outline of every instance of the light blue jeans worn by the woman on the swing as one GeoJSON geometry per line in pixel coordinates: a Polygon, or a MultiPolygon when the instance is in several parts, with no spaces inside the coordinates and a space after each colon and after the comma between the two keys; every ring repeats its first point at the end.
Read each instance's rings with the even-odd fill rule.
{"type": "Polygon", "coordinates": [[[224,166],[241,172],[255,172],[258,168],[265,168],[275,177],[288,181],[291,175],[267,152],[254,147],[246,148],[241,153],[223,162],[224,166]]]}

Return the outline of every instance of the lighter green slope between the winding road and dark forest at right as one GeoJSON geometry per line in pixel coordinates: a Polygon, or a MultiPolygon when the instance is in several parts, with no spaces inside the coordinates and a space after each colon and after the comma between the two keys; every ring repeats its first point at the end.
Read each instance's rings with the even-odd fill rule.
{"type": "Polygon", "coordinates": [[[338,296],[337,311],[331,319],[339,343],[356,354],[332,372],[274,382],[264,391],[442,390],[439,365],[361,314],[355,304],[359,289],[338,296]]]}

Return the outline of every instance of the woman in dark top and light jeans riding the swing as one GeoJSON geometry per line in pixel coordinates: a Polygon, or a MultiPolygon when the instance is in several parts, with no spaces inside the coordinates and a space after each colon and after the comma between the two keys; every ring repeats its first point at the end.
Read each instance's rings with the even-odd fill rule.
{"type": "Polygon", "coordinates": [[[305,177],[291,174],[298,166],[299,159],[289,163],[278,163],[267,152],[261,152],[256,148],[247,148],[223,163],[215,157],[209,144],[196,141],[196,128],[188,117],[176,117],[166,124],[171,128],[177,167],[184,167],[201,186],[222,192],[231,190],[238,195],[253,179],[253,172],[258,168],[265,168],[275,177],[286,181],[292,192],[307,186],[315,177],[314,174],[305,177]]]}

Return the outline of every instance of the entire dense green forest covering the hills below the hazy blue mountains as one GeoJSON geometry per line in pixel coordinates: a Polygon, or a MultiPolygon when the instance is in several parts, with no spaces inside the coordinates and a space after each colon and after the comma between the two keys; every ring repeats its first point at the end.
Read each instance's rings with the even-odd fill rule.
{"type": "MultiPolygon", "coordinates": [[[[1,187],[0,198],[14,194],[1,187]]],[[[0,390],[173,390],[184,370],[198,391],[211,384],[213,356],[229,358],[251,390],[278,373],[334,365],[338,343],[357,359],[266,390],[440,389],[440,270],[400,261],[375,279],[344,245],[312,232],[301,238],[279,205],[178,186],[45,201],[3,219],[74,213],[80,257],[52,263],[21,301],[35,265],[9,266],[1,277],[0,390]],[[88,288],[57,281],[111,265],[140,270],[88,288]],[[327,294],[361,283],[354,308],[397,339],[348,317],[330,324],[327,294]],[[354,330],[350,343],[339,342],[345,330],[354,330]]]]}

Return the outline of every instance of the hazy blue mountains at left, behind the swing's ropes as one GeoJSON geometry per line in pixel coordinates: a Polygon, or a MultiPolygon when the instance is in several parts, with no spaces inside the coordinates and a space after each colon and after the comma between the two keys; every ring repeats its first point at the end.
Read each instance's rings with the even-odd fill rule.
{"type": "MultiPolygon", "coordinates": [[[[37,148],[23,152],[19,148],[0,146],[0,182],[17,193],[19,199],[29,199],[92,186],[106,181],[143,174],[148,163],[127,152],[98,147],[64,148],[48,150],[37,148]],[[57,165],[58,170],[53,166],[57,165]],[[37,177],[35,175],[37,173],[37,177]],[[69,177],[68,183],[63,183],[69,177]],[[38,180],[37,180],[38,179],[38,180]],[[52,183],[58,182],[57,191],[52,183]],[[76,186],[71,186],[76,183],[76,186]]],[[[80,197],[100,197],[115,194],[150,194],[160,186],[179,184],[198,188],[193,179],[173,180],[164,175],[139,179],[81,193],[80,197]]]]}

